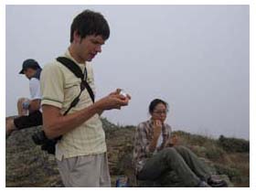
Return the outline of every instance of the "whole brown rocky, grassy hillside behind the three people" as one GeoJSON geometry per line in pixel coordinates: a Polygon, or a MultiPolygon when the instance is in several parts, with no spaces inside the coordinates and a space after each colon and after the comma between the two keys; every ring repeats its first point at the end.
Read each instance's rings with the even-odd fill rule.
{"type": "MultiPolygon", "coordinates": [[[[117,126],[102,119],[106,132],[112,187],[117,176],[125,175],[130,186],[133,178],[131,156],[133,151],[134,126],[117,126]]],[[[6,187],[62,187],[59,171],[53,155],[40,150],[31,135],[40,127],[13,133],[6,140],[6,187]]],[[[213,173],[229,181],[229,187],[250,187],[249,141],[226,138],[218,140],[202,135],[175,132],[179,144],[186,145],[210,165],[213,173]]]]}

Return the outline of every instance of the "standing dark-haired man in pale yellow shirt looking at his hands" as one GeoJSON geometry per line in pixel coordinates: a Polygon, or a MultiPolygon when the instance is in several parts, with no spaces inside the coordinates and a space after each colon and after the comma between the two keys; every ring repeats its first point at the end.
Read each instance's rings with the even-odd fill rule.
{"type": "MultiPolygon", "coordinates": [[[[109,36],[109,25],[100,13],[85,10],[72,22],[70,45],[64,57],[86,71],[85,78],[94,93],[93,73],[88,61],[101,53],[101,46],[109,36]]],[[[117,90],[93,102],[86,89],[80,94],[80,82],[57,60],[43,69],[44,131],[49,139],[62,136],[56,145],[56,158],[65,187],[111,187],[100,115],[105,110],[128,105],[130,96],[125,97],[117,90]],[[63,115],[79,94],[78,104],[63,115]]]]}

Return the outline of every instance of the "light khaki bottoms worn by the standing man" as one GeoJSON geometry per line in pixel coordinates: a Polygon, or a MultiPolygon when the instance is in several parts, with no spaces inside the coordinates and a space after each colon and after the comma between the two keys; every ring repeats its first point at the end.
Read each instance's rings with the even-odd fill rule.
{"type": "Polygon", "coordinates": [[[65,187],[111,187],[107,155],[84,155],[57,160],[65,187]]]}

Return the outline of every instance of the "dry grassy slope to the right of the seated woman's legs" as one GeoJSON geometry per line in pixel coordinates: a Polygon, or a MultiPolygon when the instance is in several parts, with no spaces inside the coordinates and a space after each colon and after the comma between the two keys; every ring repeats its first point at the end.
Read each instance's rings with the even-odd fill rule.
{"type": "Polygon", "coordinates": [[[206,136],[184,132],[176,132],[176,135],[179,137],[179,144],[188,146],[198,156],[212,161],[219,174],[229,176],[235,187],[250,187],[250,153],[234,152],[235,147],[238,147],[240,151],[240,146],[248,144],[248,141],[225,138],[229,148],[223,148],[219,140],[206,136]],[[232,141],[234,141],[234,146],[232,146],[232,141]]]}

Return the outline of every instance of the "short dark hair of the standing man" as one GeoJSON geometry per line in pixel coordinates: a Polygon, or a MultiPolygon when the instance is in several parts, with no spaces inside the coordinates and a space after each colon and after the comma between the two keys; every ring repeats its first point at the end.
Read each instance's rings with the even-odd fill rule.
{"type": "Polygon", "coordinates": [[[70,30],[70,43],[74,40],[73,35],[75,31],[78,31],[81,38],[90,35],[100,35],[106,40],[110,37],[110,27],[104,16],[88,9],[74,18],[70,30]]]}

